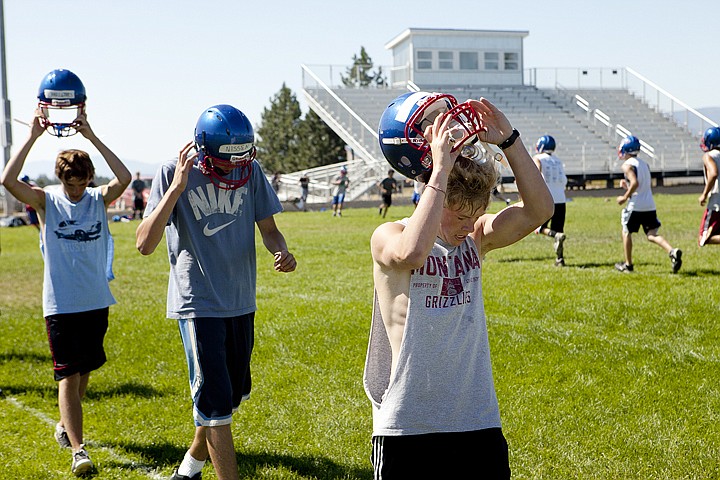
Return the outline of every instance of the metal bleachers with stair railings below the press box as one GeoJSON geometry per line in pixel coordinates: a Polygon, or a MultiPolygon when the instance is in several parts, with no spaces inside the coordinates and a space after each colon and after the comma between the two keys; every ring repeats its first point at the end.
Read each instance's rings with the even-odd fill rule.
{"type": "MultiPolygon", "coordinates": [[[[377,140],[380,116],[394,98],[409,88],[330,87],[308,67],[302,68],[303,95],[308,106],[352,149],[354,160],[342,162],[351,178],[347,199],[360,198],[375,187],[388,169],[377,140]]],[[[610,181],[620,177],[616,147],[629,134],[641,139],[644,157],[654,176],[702,175],[702,160],[696,151],[699,138],[628,89],[518,85],[465,86],[442,91],[454,95],[458,101],[489,99],[521,132],[531,154],[540,136],[552,135],[568,177],[578,185],[584,185],[587,180],[610,181]]],[[[339,164],[284,175],[289,195],[293,195],[296,188],[299,196],[298,179],[305,174],[311,178],[309,201],[327,201],[332,188],[330,181],[338,167],[339,164]]],[[[501,168],[501,172],[504,181],[514,180],[507,167],[501,168]]]]}

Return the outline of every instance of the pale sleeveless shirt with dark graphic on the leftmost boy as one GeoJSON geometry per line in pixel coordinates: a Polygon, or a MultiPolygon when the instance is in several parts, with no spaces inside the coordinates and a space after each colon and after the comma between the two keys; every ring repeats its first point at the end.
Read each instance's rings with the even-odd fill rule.
{"type": "Polygon", "coordinates": [[[43,315],[86,312],[115,303],[107,278],[110,231],[99,188],[77,203],[62,187],[45,190],[43,315]]]}

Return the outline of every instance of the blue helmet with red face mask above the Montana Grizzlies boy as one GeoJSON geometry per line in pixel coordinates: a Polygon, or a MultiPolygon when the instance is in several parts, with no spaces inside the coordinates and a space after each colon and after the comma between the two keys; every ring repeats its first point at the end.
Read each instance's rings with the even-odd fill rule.
{"type": "Polygon", "coordinates": [[[443,93],[409,92],[393,100],[380,118],[380,149],[390,165],[408,178],[432,170],[430,144],[425,129],[438,115],[450,115],[452,151],[477,141],[485,130],[478,113],[468,104],[443,93]]]}

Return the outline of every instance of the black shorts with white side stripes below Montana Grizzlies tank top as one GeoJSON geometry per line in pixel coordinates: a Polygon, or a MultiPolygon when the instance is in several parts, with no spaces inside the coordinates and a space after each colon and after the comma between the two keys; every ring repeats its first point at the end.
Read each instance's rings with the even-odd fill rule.
{"type": "Polygon", "coordinates": [[[508,445],[500,428],[372,439],[375,480],[510,478],[508,445]]]}

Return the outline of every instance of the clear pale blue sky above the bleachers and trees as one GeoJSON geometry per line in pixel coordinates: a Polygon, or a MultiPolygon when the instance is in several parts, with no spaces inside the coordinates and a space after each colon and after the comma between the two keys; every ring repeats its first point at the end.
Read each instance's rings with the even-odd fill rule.
{"type": "MultiPolygon", "coordinates": [[[[192,139],[204,108],[229,103],[257,125],[283,82],[301,98],[301,64],[348,65],[363,46],[390,65],[384,45],[407,28],[527,30],[525,68],[631,67],[692,107],[720,106],[708,1],[4,0],[4,12],[12,117],[29,120],[44,75],[69,69],[95,132],[146,174],[192,139]]],[[[26,136],[13,122],[13,153],[26,136]]],[[[43,135],[28,161],[65,148],[108,171],[79,135],[43,135]]]]}

